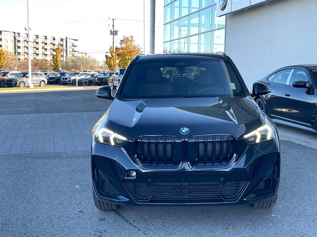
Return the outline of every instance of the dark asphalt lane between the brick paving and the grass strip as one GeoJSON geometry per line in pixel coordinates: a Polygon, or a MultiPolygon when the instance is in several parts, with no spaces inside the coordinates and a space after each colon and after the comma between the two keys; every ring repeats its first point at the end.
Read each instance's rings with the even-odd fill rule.
{"type": "Polygon", "coordinates": [[[1,93],[0,114],[106,111],[111,100],[97,98],[96,88],[1,93]]]}

